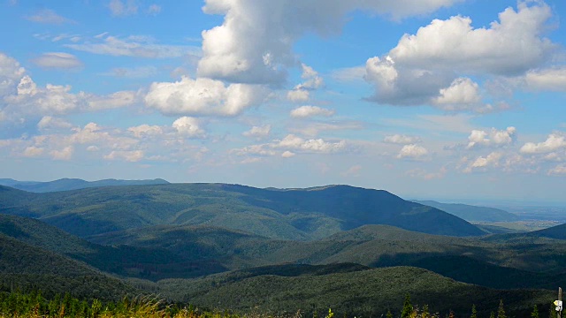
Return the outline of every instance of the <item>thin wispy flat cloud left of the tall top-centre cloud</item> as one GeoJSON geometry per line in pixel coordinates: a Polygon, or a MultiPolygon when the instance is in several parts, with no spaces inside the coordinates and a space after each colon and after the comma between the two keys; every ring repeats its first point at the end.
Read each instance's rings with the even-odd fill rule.
{"type": "Polygon", "coordinates": [[[113,57],[173,58],[187,55],[200,56],[200,49],[186,45],[157,44],[148,36],[129,36],[120,39],[106,33],[98,34],[93,39],[65,44],[66,48],[88,53],[113,57]]]}

